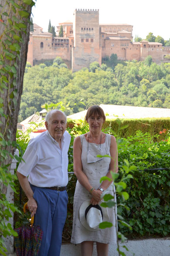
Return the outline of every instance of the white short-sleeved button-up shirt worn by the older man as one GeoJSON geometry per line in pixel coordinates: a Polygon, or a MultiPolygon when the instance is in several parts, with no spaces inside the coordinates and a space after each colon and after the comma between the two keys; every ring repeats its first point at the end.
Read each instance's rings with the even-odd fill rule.
{"type": "Polygon", "coordinates": [[[17,171],[38,187],[67,186],[68,148],[71,136],[65,131],[61,148],[48,130],[30,140],[17,171]]]}

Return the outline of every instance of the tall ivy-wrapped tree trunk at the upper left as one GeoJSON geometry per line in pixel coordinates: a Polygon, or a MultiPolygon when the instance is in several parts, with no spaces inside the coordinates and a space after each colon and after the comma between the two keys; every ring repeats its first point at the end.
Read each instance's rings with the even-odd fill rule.
{"type": "MultiPolygon", "coordinates": [[[[11,2],[0,0],[0,167],[5,170],[8,165],[6,172],[15,149],[12,142],[16,139],[31,15],[31,4],[22,0],[11,2]]],[[[6,194],[7,186],[0,184],[0,189],[6,194]]]]}

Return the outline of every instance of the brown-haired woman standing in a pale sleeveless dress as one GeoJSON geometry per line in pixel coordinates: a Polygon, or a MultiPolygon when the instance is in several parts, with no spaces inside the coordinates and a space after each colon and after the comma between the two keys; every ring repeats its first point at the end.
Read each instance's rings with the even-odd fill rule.
{"type": "Polygon", "coordinates": [[[112,178],[110,171],[118,172],[118,151],[116,139],[112,135],[102,133],[105,114],[98,105],[91,106],[85,116],[89,124],[89,132],[74,140],[73,159],[77,184],[74,196],[74,217],[71,242],[81,243],[82,256],[92,256],[93,242],[96,242],[98,256],[108,256],[109,243],[116,242],[116,218],[113,208],[108,208],[109,221],[112,228],[90,231],[79,219],[79,209],[83,202],[90,200],[92,205],[101,203],[101,194],[105,189],[113,195],[112,182],[100,183],[102,176],[112,178]],[[111,158],[97,158],[96,155],[108,154],[111,158]]]}

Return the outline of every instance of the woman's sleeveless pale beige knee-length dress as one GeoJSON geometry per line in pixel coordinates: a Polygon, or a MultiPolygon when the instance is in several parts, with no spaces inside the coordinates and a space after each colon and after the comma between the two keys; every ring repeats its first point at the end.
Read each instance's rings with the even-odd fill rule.
{"type": "MultiPolygon", "coordinates": [[[[80,139],[82,143],[81,159],[83,172],[87,175],[92,187],[98,189],[101,184],[100,178],[105,176],[109,171],[110,158],[104,157],[100,159],[96,158],[96,155],[110,155],[111,135],[106,134],[105,143],[99,145],[94,143],[88,143],[85,139],[84,134],[80,136],[80,139]],[[91,161],[91,163],[88,163],[87,161],[91,161]]],[[[113,189],[115,190],[115,187],[113,186],[113,184],[111,184],[108,188],[108,193],[113,195],[113,189]]],[[[108,208],[109,222],[113,224],[112,228],[99,229],[97,231],[89,231],[79,221],[80,206],[85,200],[89,200],[91,198],[92,196],[89,194],[87,189],[85,189],[77,181],[74,195],[73,229],[71,243],[79,244],[83,241],[94,241],[105,244],[116,243],[116,213],[113,207],[108,208]]]]}

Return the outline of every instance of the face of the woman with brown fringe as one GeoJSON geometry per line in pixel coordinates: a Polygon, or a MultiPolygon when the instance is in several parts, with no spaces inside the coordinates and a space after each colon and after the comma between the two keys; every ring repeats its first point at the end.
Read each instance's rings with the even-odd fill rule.
{"type": "Polygon", "coordinates": [[[91,130],[93,132],[99,132],[102,129],[104,120],[103,120],[102,116],[99,116],[98,114],[94,116],[92,114],[92,116],[90,116],[87,119],[87,122],[89,124],[89,130],[91,130]]]}

